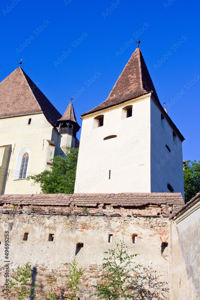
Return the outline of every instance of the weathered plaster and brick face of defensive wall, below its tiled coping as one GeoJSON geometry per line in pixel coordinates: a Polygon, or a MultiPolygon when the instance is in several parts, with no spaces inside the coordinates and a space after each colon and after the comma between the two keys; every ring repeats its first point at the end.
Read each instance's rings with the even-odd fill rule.
{"type": "MultiPolygon", "coordinates": [[[[76,255],[76,259],[78,266],[84,268],[78,295],[80,300],[97,299],[94,296],[93,285],[97,283],[98,275],[102,274],[102,259],[105,257],[103,252],[108,248],[114,249],[117,239],[122,238],[127,246],[132,247],[128,250],[129,254],[140,254],[135,257],[135,262],[142,265],[136,275],[139,279],[137,298],[142,299],[141,295],[145,295],[146,299],[151,300],[158,297],[169,299],[169,253],[166,249],[165,254],[161,254],[161,243],[162,240],[167,240],[170,245],[170,221],[168,217],[156,217],[158,212],[162,213],[159,205],[144,205],[139,208],[95,204],[96,206],[88,207],[88,212],[82,212],[81,206],[56,206],[55,202],[59,202],[59,195],[62,194],[43,195],[44,198],[40,201],[45,202],[45,205],[21,204],[21,207],[15,211],[12,209],[12,203],[1,205],[0,296],[2,299],[5,296],[5,263],[2,259],[5,231],[9,232],[10,274],[12,268],[15,269],[18,265],[29,261],[37,271],[35,284],[40,286],[36,289],[37,300],[45,298],[48,289],[59,292],[61,288],[64,289],[64,297],[67,298],[70,291],[67,291],[66,274],[68,274],[68,264],[75,256],[77,243],[83,243],[83,248],[76,255]],[[53,197],[57,200],[55,201],[53,197]],[[51,204],[53,202],[54,205],[51,204]],[[27,241],[23,240],[25,232],[28,233],[27,241]],[[49,234],[54,234],[53,241],[48,241],[49,234]],[[108,242],[109,234],[113,234],[112,243],[108,242]],[[137,235],[135,244],[133,244],[133,234],[137,235]]],[[[16,201],[19,195],[15,196],[13,199],[16,201]]],[[[18,201],[22,203],[23,199],[18,201]]],[[[164,207],[163,209],[168,210],[166,205],[164,207]]],[[[10,296],[16,295],[12,292],[10,296]]]]}

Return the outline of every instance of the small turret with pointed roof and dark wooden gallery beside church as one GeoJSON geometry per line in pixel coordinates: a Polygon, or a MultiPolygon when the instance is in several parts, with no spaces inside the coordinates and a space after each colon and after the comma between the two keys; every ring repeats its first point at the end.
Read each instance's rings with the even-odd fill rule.
{"type": "Polygon", "coordinates": [[[66,147],[79,147],[79,141],[76,138],[76,133],[79,131],[80,126],[76,121],[72,102],[70,102],[64,112],[64,115],[57,121],[55,126],[60,134],[58,137],[59,147],[56,149],[56,155],[60,155],[65,158],[66,147]]]}

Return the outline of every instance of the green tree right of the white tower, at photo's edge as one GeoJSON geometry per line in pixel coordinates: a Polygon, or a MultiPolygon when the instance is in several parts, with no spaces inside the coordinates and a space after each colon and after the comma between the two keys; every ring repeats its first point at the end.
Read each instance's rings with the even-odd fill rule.
{"type": "Polygon", "coordinates": [[[200,161],[185,161],[183,174],[186,203],[200,191],[200,161]]]}

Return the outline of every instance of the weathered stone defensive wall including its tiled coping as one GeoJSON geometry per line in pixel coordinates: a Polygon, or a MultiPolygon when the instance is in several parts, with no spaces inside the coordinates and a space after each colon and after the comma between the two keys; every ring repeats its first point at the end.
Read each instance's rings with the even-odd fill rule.
{"type": "MultiPolygon", "coordinates": [[[[8,299],[5,274],[26,262],[39,286],[36,299],[45,298],[48,290],[67,298],[66,275],[74,257],[84,270],[77,297],[97,299],[104,252],[123,238],[127,252],[138,253],[135,262],[142,265],[134,274],[136,299],[169,299],[170,224],[183,205],[181,193],[1,195],[0,299],[8,299]]],[[[10,299],[16,296],[10,289],[10,299]]]]}

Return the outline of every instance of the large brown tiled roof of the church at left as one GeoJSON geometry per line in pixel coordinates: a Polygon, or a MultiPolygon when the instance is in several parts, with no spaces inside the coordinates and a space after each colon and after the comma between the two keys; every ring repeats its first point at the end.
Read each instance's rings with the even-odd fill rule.
{"type": "Polygon", "coordinates": [[[61,114],[21,67],[0,83],[0,118],[43,112],[53,125],[61,114]]]}

